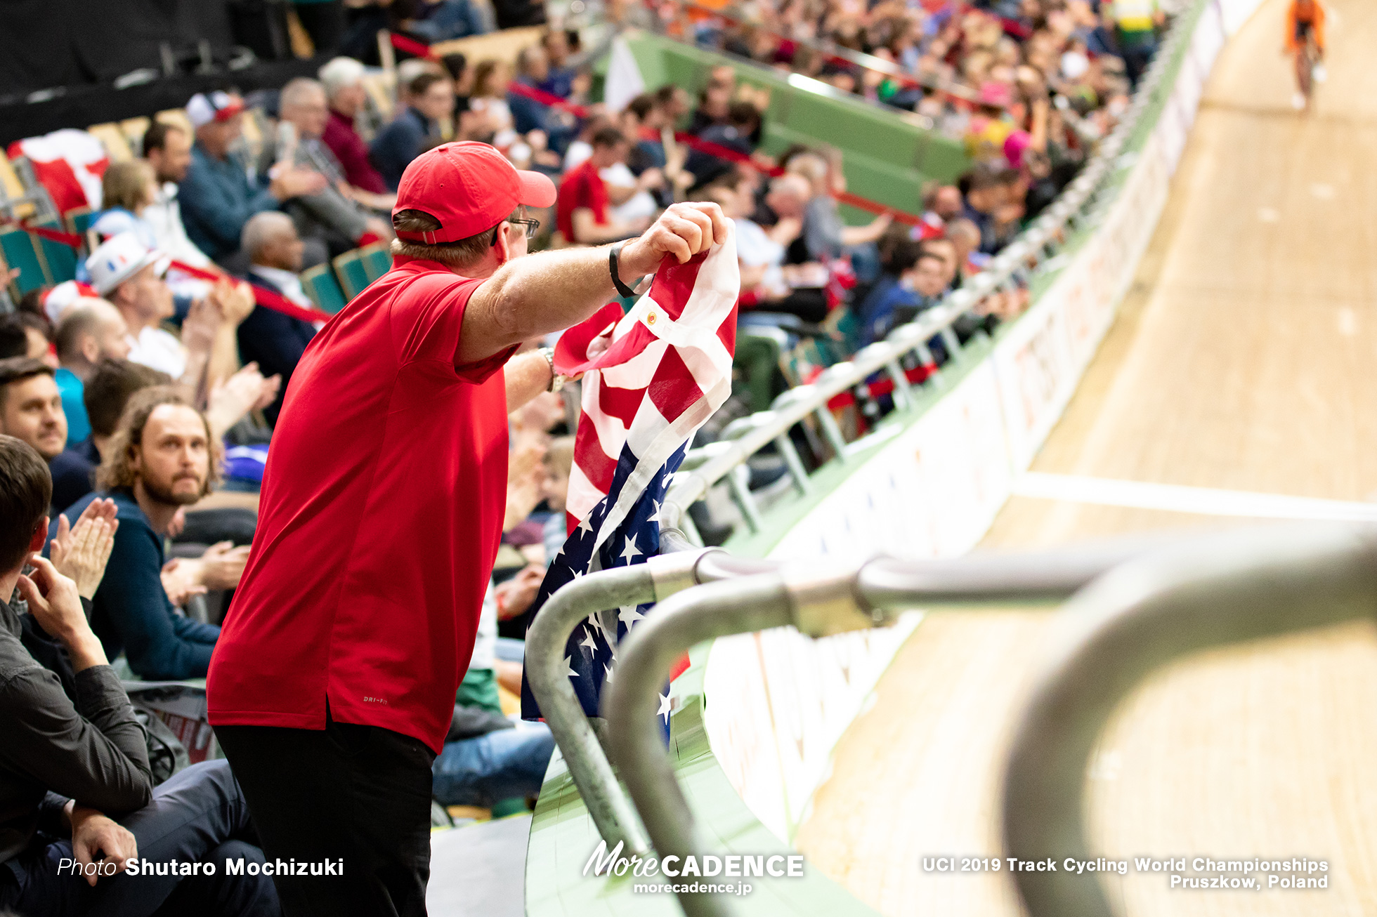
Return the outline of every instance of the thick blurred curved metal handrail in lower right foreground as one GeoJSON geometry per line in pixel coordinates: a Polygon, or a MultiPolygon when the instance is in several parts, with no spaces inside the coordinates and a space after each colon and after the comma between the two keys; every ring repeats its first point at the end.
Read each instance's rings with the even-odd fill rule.
{"type": "MultiPolygon", "coordinates": [[[[1009,753],[1004,844],[1089,859],[1085,772],[1110,715],[1148,673],[1206,649],[1377,620],[1377,530],[1286,526],[1125,565],[1066,609],[1067,631],[1009,753]]],[[[1016,872],[1031,917],[1110,917],[1095,873],[1016,872]]]]}

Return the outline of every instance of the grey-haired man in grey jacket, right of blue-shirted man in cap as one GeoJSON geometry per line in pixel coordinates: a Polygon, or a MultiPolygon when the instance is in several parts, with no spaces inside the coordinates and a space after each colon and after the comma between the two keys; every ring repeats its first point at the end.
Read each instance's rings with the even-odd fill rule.
{"type": "Polygon", "coordinates": [[[321,238],[330,256],[368,242],[390,240],[391,229],[354,200],[359,191],[350,187],[339,160],[321,143],[321,134],[330,118],[325,87],[307,77],[289,81],[282,87],[278,113],[282,124],[292,125],[295,145],[281,149],[277,134],[264,140],[260,171],[269,172],[275,162],[277,168],[292,168],[325,179],[319,191],[300,194],[282,204],[282,209],[296,222],[297,231],[303,237],[321,238]]]}

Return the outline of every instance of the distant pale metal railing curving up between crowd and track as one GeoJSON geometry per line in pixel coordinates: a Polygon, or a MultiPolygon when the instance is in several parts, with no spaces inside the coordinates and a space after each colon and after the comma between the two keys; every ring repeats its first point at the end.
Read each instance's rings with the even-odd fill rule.
{"type": "MultiPolygon", "coordinates": [[[[789,430],[808,416],[815,417],[823,438],[837,456],[844,456],[854,447],[863,447],[863,445],[858,445],[863,443],[863,439],[856,443],[845,442],[836,419],[828,410],[828,402],[863,384],[879,372],[890,373],[895,380],[896,401],[902,401],[899,390],[906,392],[909,383],[898,368],[909,354],[916,354],[921,363],[931,365],[927,341],[932,337],[943,337],[949,352],[960,362],[961,348],[956,341],[952,325],[986,296],[1026,281],[1031,271],[1058,253],[1067,230],[1095,218],[1100,204],[1099,196],[1104,190],[1107,179],[1115,173],[1117,160],[1124,145],[1137,129],[1143,112],[1153,101],[1166,62],[1172,58],[1176,47],[1187,39],[1183,29],[1172,26],[1114,131],[1100,142],[1095,156],[1052,202],[1048,212],[1026,227],[994,257],[985,271],[976,274],[969,288],[947,293],[938,306],[894,329],[885,340],[866,347],[847,361],[829,366],[811,384],[797,386],[784,392],[775,398],[768,409],[755,412],[744,419],[749,425],[748,432],[733,439],[730,445],[723,446],[717,442],[690,449],[684,457],[684,470],[675,475],[669,492],[665,494],[661,509],[661,518],[665,519],[665,523],[672,527],[688,525],[684,519],[690,505],[702,500],[717,482],[728,479],[730,483],[728,476],[733,470],[745,464],[750,456],[770,443],[788,441],[789,430]]],[[[943,384],[942,373],[929,379],[935,386],[943,384]]],[[[804,490],[807,475],[803,474],[801,467],[796,470],[793,463],[789,464],[795,485],[804,490]]],[[[749,490],[744,483],[734,485],[733,496],[742,505],[748,527],[755,529],[759,525],[759,514],[755,511],[749,490]]]]}

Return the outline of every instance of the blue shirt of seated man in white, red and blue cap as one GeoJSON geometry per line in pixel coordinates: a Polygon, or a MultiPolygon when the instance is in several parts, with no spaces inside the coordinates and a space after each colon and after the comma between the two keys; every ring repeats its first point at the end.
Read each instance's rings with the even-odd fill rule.
{"type": "Polygon", "coordinates": [[[179,186],[178,200],[187,237],[215,259],[240,249],[240,234],[251,216],[278,209],[267,183],[249,180],[238,156],[218,160],[200,143],[191,147],[191,168],[179,186]]]}

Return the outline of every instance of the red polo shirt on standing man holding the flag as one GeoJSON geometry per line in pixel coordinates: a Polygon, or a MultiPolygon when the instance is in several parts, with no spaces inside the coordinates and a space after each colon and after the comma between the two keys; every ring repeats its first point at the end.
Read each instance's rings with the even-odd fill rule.
{"type": "Polygon", "coordinates": [[[215,726],[412,735],[438,753],[507,500],[504,351],[454,365],[482,281],[398,257],[311,340],[207,683],[215,726]]]}

